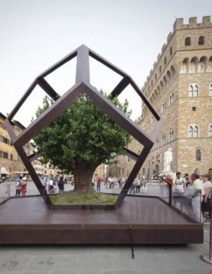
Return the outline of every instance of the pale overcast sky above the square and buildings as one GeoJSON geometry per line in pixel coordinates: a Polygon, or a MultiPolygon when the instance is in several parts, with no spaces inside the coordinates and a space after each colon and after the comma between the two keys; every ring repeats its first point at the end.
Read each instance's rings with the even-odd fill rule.
{"type": "MultiPolygon", "coordinates": [[[[176,18],[212,15],[211,0],[0,0],[0,112],[10,113],[34,78],[84,44],[130,74],[141,88],[176,18]]],[[[59,94],[75,82],[76,60],[46,80],[59,94]]],[[[120,77],[90,58],[91,84],[110,93],[120,77]]],[[[15,115],[27,126],[45,96],[36,88],[15,115]]],[[[141,99],[126,88],[131,118],[141,99]]]]}

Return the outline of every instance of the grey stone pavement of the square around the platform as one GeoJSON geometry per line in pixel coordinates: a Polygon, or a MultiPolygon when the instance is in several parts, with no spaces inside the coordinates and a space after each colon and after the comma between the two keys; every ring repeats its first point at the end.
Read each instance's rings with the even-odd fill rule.
{"type": "MultiPolygon", "coordinates": [[[[12,188],[14,182],[14,195],[12,188]]],[[[6,185],[1,186],[0,195],[5,189],[6,185]]],[[[68,189],[71,185],[66,185],[68,189]]],[[[147,194],[150,189],[157,191],[150,186],[147,194]]],[[[27,194],[38,194],[32,182],[27,194]]],[[[128,245],[2,245],[0,274],[212,274],[212,266],[200,259],[208,249],[208,225],[204,227],[204,244],[138,245],[135,259],[128,245]]]]}

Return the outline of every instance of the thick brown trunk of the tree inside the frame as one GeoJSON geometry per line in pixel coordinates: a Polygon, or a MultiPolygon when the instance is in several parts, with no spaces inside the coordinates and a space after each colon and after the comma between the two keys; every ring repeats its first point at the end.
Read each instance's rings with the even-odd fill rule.
{"type": "Polygon", "coordinates": [[[92,177],[95,169],[84,163],[77,164],[72,170],[74,174],[74,191],[93,192],[92,177]]]}

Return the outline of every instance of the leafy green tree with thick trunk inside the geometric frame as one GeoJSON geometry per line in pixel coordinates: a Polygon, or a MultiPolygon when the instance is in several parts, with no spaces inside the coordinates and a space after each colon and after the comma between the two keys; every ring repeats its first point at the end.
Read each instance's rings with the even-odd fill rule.
{"type": "MultiPolygon", "coordinates": [[[[107,96],[103,91],[103,95],[107,96]]],[[[122,104],[117,97],[107,96],[128,117],[128,101],[122,104]]],[[[53,101],[47,96],[38,107],[36,117],[47,110],[53,101]]],[[[34,137],[34,146],[43,163],[74,175],[75,190],[91,192],[92,177],[96,167],[110,164],[115,155],[124,155],[123,147],[130,135],[86,97],[79,97],[49,126],[34,137]]]]}

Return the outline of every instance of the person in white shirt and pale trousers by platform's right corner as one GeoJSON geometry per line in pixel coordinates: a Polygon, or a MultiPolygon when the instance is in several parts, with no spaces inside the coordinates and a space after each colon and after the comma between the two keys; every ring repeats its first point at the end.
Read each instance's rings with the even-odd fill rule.
{"type": "Polygon", "coordinates": [[[200,175],[197,172],[192,173],[190,179],[193,181],[190,194],[192,195],[194,217],[198,222],[202,222],[201,202],[202,196],[205,194],[203,183],[200,181],[200,175]]]}

